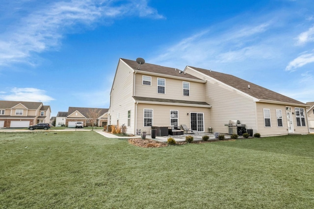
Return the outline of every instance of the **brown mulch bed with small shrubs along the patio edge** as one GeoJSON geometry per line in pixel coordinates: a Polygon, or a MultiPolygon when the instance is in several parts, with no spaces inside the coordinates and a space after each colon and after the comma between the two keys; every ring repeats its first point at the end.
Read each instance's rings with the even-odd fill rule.
{"type": "MultiPolygon", "coordinates": [[[[168,143],[166,143],[166,142],[159,142],[159,141],[152,140],[152,139],[140,139],[139,138],[139,139],[128,139],[128,141],[130,144],[132,144],[134,146],[145,147],[145,148],[157,148],[157,147],[168,146],[168,143]]],[[[208,141],[197,140],[197,141],[192,141],[192,143],[202,144],[202,143],[210,143],[210,142],[215,142],[215,141],[219,141],[219,140],[218,139],[212,139],[212,140],[208,140],[208,141]]],[[[187,142],[185,142],[185,141],[177,141],[176,145],[183,145],[186,143],[187,142]]]]}

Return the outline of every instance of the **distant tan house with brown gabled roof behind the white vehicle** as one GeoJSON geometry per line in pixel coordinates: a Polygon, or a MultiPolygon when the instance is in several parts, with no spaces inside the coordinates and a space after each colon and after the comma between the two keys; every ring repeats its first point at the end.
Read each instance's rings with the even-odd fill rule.
{"type": "Polygon", "coordinates": [[[86,107],[69,107],[68,116],[66,117],[65,126],[75,127],[76,122],[82,122],[84,126],[92,126],[90,124],[91,118],[89,117],[90,111],[96,110],[99,112],[95,126],[105,126],[107,125],[107,112],[108,109],[105,108],[86,108],[86,107]]]}

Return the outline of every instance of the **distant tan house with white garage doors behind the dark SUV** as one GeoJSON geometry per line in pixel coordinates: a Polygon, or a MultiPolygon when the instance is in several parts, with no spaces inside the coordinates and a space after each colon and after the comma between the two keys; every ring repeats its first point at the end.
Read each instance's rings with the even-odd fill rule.
{"type": "Polygon", "coordinates": [[[51,108],[42,102],[0,101],[0,128],[24,128],[50,122],[51,108]]]}

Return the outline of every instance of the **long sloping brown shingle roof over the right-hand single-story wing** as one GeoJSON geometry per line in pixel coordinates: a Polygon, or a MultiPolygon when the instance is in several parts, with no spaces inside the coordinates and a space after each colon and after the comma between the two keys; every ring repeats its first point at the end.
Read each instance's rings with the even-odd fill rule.
{"type": "Polygon", "coordinates": [[[197,70],[201,73],[204,73],[218,81],[221,81],[237,90],[240,90],[243,93],[247,93],[257,99],[263,99],[263,100],[272,100],[272,101],[279,101],[279,102],[285,102],[285,103],[294,103],[294,104],[300,104],[305,105],[303,102],[297,101],[295,99],[292,99],[288,96],[282,95],[280,93],[273,92],[269,89],[263,88],[259,85],[256,85],[254,83],[251,83],[249,81],[243,80],[241,78],[235,77],[230,74],[225,74],[221,72],[215,72],[212,70],[206,70],[201,68],[195,68],[190,67],[194,70],[197,70]],[[250,88],[248,88],[248,85],[250,85],[250,88]]]}

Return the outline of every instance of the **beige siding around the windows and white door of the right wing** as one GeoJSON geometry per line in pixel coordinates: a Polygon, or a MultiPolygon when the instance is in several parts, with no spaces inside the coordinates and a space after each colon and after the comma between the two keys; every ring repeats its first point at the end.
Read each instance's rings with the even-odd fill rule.
{"type": "MultiPolygon", "coordinates": [[[[289,106],[289,107],[291,107],[291,112],[294,113],[295,106],[289,106]]],[[[304,108],[304,110],[305,110],[305,107],[301,107],[301,108],[304,108]]],[[[287,115],[286,105],[257,102],[257,116],[258,116],[257,122],[258,122],[258,127],[259,127],[258,132],[261,134],[262,137],[276,136],[276,135],[287,135],[288,134],[288,123],[287,123],[287,116],[286,115],[287,115]],[[269,109],[270,110],[271,127],[265,127],[265,125],[264,125],[263,109],[269,109]],[[282,110],[283,127],[278,127],[278,125],[277,125],[276,110],[282,110]]],[[[306,115],[305,115],[305,121],[306,121],[306,126],[297,126],[295,114],[292,115],[292,123],[293,123],[293,128],[294,128],[295,134],[309,133],[306,115]]]]}

